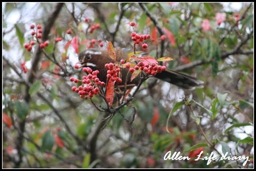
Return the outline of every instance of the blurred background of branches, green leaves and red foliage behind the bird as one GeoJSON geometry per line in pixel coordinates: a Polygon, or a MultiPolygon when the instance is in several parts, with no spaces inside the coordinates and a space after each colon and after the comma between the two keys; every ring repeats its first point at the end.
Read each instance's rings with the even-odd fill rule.
{"type": "Polygon", "coordinates": [[[4,168],[253,167],[253,3],[2,5],[4,168]],[[74,64],[87,48],[133,49],[130,22],[151,36],[150,56],[205,85],[148,79],[101,130],[104,113],[69,78],[83,76],[74,64]],[[169,150],[192,159],[164,160],[169,150]],[[249,161],[207,165],[193,160],[201,150],[249,161]]]}

